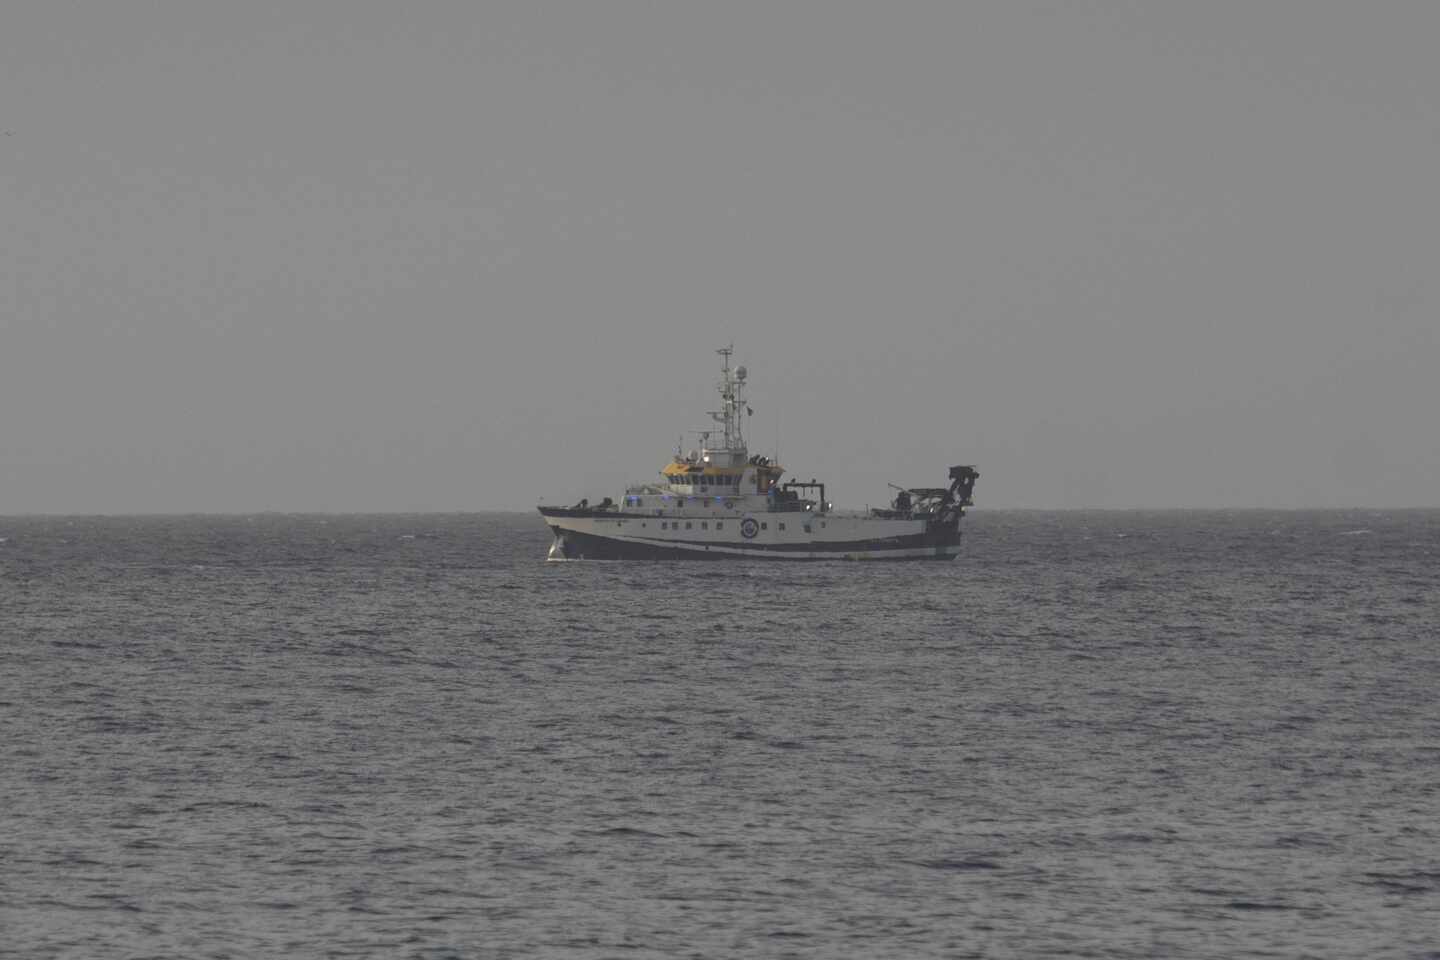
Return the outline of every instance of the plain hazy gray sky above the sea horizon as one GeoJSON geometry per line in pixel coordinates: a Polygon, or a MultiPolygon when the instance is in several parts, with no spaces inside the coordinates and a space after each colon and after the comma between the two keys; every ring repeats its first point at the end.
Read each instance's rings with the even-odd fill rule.
{"type": "Polygon", "coordinates": [[[1440,505],[1440,4],[32,3],[0,514],[1440,505]]]}

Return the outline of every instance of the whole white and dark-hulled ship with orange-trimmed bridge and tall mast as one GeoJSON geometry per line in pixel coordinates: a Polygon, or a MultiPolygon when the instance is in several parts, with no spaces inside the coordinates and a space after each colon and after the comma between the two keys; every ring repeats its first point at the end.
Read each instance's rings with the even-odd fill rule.
{"type": "Polygon", "coordinates": [[[554,534],[550,560],[950,560],[959,522],[979,474],[952,466],[949,486],[896,488],[887,508],[840,511],[825,484],[786,481],[775,459],[750,455],[744,442],[747,371],[732,367],[717,384],[719,429],[675,456],[660,479],[626,488],[616,502],[582,499],[540,507],[554,534]],[[719,436],[716,436],[719,433],[719,436]]]}

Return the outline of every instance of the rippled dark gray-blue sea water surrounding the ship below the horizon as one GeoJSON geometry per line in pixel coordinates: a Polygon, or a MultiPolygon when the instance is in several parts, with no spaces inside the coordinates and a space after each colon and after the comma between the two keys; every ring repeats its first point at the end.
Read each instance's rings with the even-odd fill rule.
{"type": "Polygon", "coordinates": [[[1440,957],[1440,512],[0,518],[4,957],[1440,957]]]}

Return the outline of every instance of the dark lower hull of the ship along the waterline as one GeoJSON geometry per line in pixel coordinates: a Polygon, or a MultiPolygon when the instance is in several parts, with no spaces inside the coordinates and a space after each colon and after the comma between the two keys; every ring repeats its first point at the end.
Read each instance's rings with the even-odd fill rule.
{"type": "Polygon", "coordinates": [[[955,560],[959,533],[919,534],[847,543],[762,545],[747,543],[657,543],[619,540],[552,527],[549,560],[955,560]]]}

